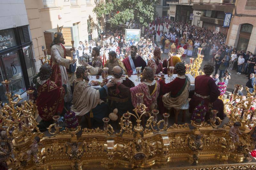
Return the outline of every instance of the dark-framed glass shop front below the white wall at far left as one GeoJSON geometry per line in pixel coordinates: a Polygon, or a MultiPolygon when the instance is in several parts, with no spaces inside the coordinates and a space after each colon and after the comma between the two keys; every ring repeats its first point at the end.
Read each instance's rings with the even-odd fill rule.
{"type": "MultiPolygon", "coordinates": [[[[35,75],[28,26],[0,30],[0,81],[11,80],[12,95],[21,95],[35,75]]],[[[0,100],[7,102],[0,83],[0,100]]]]}

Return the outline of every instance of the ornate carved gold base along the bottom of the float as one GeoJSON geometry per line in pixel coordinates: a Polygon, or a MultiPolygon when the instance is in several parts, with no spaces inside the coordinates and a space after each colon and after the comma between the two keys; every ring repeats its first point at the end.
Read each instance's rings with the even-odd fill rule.
{"type": "Polygon", "coordinates": [[[204,127],[198,132],[201,147],[193,139],[195,131],[184,125],[145,138],[84,131],[74,150],[67,145],[71,135],[44,137],[40,162],[29,161],[23,169],[256,169],[255,159],[248,162],[244,155],[252,147],[246,135],[241,136],[241,144],[233,144],[225,129],[204,127]]]}

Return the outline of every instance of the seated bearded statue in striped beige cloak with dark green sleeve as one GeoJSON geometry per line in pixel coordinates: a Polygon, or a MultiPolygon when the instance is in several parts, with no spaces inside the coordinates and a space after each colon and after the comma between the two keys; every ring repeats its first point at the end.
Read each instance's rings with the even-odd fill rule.
{"type": "Polygon", "coordinates": [[[114,86],[115,83],[109,82],[97,90],[88,84],[89,79],[87,76],[85,66],[77,67],[76,80],[73,83],[74,92],[71,111],[75,112],[77,116],[90,114],[90,117],[93,118],[92,124],[99,126],[108,112],[107,104],[101,99],[107,97],[108,88],[114,86]]]}

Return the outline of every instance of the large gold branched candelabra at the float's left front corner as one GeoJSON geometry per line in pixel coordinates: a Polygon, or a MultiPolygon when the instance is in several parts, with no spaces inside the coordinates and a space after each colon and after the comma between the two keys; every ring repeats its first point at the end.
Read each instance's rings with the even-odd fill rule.
{"type": "Polygon", "coordinates": [[[23,101],[21,106],[18,107],[17,104],[22,100],[20,95],[15,94],[12,97],[10,91],[10,80],[5,80],[1,82],[4,85],[4,92],[8,99],[8,104],[5,103],[1,108],[0,119],[3,121],[1,127],[6,126],[6,132],[8,137],[14,138],[16,143],[26,142],[31,138],[33,134],[43,135],[37,128],[37,122],[35,119],[36,114],[36,104],[33,100],[34,90],[27,90],[29,97],[28,101],[23,101]],[[14,99],[16,101],[14,101],[14,99]],[[9,132],[13,132],[10,134],[9,132]],[[34,133],[33,131],[36,130],[34,133]]]}

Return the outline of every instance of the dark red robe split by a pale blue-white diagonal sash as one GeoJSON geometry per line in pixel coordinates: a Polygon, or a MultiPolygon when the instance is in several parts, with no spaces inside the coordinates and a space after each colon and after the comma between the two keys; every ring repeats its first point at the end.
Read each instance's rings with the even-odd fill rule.
{"type": "MultiPolygon", "coordinates": [[[[136,67],[141,67],[141,72],[147,66],[145,60],[143,60],[143,58],[141,58],[140,56],[138,56],[136,59],[132,58],[132,61],[134,63],[135,68],[136,67]]],[[[127,71],[127,74],[132,75],[132,67],[131,67],[131,64],[130,64],[129,57],[124,58],[122,62],[124,63],[124,67],[127,71]]]]}

